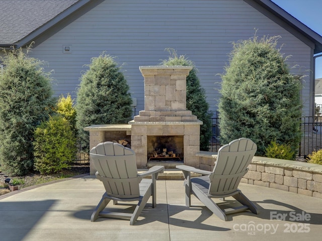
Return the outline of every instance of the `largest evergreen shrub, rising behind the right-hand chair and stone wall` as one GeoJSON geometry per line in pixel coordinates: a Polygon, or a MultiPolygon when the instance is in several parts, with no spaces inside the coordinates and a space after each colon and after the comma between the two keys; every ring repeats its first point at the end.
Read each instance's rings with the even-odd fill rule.
{"type": "Polygon", "coordinates": [[[220,141],[250,138],[259,156],[275,141],[289,145],[294,159],[301,136],[301,84],[276,48],[278,38],[255,36],[234,43],[221,76],[220,141]]]}

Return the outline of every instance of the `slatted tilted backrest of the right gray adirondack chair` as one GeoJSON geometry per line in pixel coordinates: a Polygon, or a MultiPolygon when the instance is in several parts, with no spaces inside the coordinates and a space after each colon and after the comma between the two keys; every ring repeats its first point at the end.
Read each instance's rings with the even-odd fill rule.
{"type": "Polygon", "coordinates": [[[213,173],[209,176],[208,193],[218,195],[236,190],[256,151],[256,144],[246,138],[240,138],[222,146],[218,150],[213,173]]]}

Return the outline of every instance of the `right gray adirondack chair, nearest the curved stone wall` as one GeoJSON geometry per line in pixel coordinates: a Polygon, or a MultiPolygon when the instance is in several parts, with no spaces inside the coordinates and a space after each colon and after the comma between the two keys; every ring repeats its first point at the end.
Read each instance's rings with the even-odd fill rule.
{"type": "Polygon", "coordinates": [[[191,206],[194,194],[220,219],[227,221],[226,214],[251,210],[258,214],[257,207],[237,188],[240,179],[247,173],[248,165],[257,151],[257,145],[250,139],[240,138],[222,146],[217,153],[213,171],[200,170],[186,165],[176,166],[185,178],[186,205],[191,206]],[[191,172],[204,176],[191,178],[191,172]],[[212,198],[232,196],[241,206],[221,209],[212,198]]]}

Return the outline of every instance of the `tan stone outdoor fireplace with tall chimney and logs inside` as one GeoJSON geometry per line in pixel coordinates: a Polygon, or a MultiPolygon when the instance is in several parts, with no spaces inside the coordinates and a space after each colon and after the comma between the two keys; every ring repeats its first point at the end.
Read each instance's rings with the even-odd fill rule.
{"type": "Polygon", "coordinates": [[[151,160],[178,160],[199,167],[200,125],[186,109],[186,77],[191,66],[141,66],[144,110],[134,116],[131,148],[138,168],[151,160]],[[160,154],[161,156],[155,157],[160,154]]]}

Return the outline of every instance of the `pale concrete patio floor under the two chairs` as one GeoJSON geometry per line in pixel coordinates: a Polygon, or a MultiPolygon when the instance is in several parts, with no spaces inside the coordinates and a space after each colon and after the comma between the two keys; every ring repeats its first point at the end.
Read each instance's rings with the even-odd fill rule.
{"type": "Polygon", "coordinates": [[[103,184],[95,176],[71,178],[0,196],[0,240],[320,240],[322,199],[244,183],[239,189],[260,214],[235,213],[225,222],[195,197],[186,207],[183,180],[157,180],[157,206],[149,202],[130,226],[91,222],[103,184]]]}

